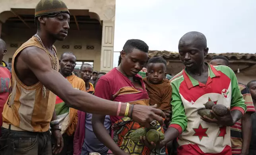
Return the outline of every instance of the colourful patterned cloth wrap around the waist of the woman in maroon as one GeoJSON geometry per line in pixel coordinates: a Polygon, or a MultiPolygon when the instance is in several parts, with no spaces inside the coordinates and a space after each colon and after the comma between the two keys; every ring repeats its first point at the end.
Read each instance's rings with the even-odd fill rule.
{"type": "MultiPolygon", "coordinates": [[[[164,133],[163,128],[157,124],[157,130],[164,133]]],[[[152,149],[143,146],[140,142],[132,141],[129,138],[130,133],[141,128],[140,124],[133,121],[130,117],[123,117],[116,121],[112,126],[114,131],[113,140],[125,153],[130,155],[168,155],[167,147],[161,149],[152,149]]]]}

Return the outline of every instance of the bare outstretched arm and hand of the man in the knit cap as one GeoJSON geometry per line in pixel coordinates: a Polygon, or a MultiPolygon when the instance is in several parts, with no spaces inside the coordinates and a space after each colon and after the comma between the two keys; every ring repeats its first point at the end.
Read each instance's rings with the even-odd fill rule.
{"type": "MultiPolygon", "coordinates": [[[[89,93],[76,90],[56,70],[52,69],[49,56],[38,47],[27,47],[19,55],[27,67],[35,74],[37,79],[50,91],[59,96],[68,106],[77,110],[101,115],[116,115],[118,104],[105,100],[89,93]]],[[[131,115],[131,105],[128,115],[131,115]]],[[[124,116],[126,103],[122,103],[120,115],[124,116]]],[[[149,127],[155,119],[163,124],[165,114],[150,106],[135,105],[132,111],[132,119],[149,127]],[[142,113],[143,111],[143,113],[142,113]]]]}

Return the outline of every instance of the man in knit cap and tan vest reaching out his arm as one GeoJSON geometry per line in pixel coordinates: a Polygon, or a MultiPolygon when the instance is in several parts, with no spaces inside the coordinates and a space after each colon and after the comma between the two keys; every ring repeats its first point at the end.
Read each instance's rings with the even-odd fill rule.
{"type": "MultiPolygon", "coordinates": [[[[155,107],[118,103],[74,89],[58,73],[54,42],[68,35],[70,13],[61,0],[41,0],[35,8],[37,33],[14,53],[10,96],[4,105],[0,155],[60,153],[63,139],[54,112],[56,95],[68,106],[88,113],[130,116],[145,127],[163,124],[155,107]],[[143,113],[142,113],[143,111],[143,113]],[[51,146],[50,131],[54,138],[51,146]]],[[[162,117],[160,117],[161,115],[162,117]]]]}

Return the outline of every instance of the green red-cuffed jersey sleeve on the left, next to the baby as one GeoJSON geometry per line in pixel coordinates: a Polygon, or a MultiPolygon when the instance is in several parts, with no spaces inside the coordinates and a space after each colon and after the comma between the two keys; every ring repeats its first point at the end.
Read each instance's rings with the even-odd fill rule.
{"type": "Polygon", "coordinates": [[[182,131],[186,130],[188,120],[185,114],[182,100],[180,98],[178,86],[174,85],[173,83],[171,83],[171,86],[173,89],[172,101],[171,101],[172,120],[169,127],[173,127],[177,129],[178,132],[181,134],[182,131]]]}

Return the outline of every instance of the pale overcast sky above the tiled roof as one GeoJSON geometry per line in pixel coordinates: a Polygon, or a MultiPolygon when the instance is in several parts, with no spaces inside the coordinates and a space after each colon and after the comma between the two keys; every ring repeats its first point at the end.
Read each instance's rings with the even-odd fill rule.
{"type": "Polygon", "coordinates": [[[116,0],[114,51],[128,39],[143,40],[149,50],[178,51],[179,39],[198,31],[209,53],[256,53],[255,29],[256,0],[116,0]]]}

